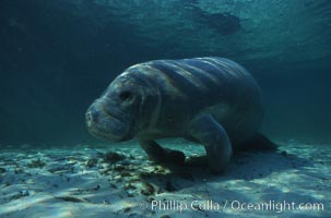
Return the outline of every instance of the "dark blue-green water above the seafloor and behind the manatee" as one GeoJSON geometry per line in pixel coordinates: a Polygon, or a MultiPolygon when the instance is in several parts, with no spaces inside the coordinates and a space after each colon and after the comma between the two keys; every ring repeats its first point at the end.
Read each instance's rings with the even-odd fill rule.
{"type": "Polygon", "coordinates": [[[258,80],[268,135],[330,142],[329,0],[0,0],[0,145],[98,142],[84,112],[117,74],[204,56],[258,80]]]}

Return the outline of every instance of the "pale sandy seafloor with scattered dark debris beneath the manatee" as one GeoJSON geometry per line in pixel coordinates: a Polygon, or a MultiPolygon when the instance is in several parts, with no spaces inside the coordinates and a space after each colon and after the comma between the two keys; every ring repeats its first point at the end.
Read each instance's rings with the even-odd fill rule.
{"type": "MultiPolygon", "coordinates": [[[[189,156],[202,146],[163,142],[189,156]]],[[[0,149],[0,217],[331,217],[331,146],[294,140],[227,170],[162,167],[135,142],[0,149]]]]}

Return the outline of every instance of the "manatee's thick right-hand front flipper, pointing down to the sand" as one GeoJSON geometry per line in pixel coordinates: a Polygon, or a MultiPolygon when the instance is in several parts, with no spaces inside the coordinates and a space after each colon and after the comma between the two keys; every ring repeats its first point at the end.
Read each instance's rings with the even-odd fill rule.
{"type": "Polygon", "coordinates": [[[233,152],[224,128],[211,114],[202,114],[189,123],[188,133],[204,146],[211,171],[221,173],[233,152]]]}

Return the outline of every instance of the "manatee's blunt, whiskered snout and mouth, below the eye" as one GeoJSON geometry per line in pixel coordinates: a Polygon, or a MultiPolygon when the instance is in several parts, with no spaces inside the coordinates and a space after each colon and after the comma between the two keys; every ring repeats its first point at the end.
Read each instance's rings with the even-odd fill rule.
{"type": "Polygon", "coordinates": [[[121,142],[130,137],[131,121],[110,100],[95,100],[85,113],[88,132],[110,142],[121,142]]]}

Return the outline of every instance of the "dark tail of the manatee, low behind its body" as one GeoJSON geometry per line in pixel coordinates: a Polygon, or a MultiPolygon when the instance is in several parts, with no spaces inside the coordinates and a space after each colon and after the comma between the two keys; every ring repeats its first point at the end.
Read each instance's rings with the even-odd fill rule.
{"type": "Polygon", "coordinates": [[[238,152],[273,152],[277,149],[277,145],[271,142],[268,137],[261,133],[257,133],[251,138],[247,140],[240,145],[238,152]]]}

